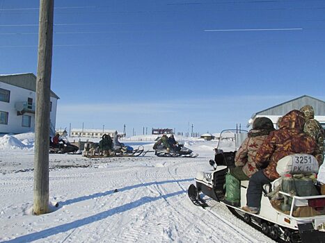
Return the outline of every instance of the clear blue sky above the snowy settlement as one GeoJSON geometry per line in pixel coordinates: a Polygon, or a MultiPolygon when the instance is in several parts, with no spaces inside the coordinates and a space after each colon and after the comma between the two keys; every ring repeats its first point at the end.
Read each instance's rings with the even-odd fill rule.
{"type": "MultiPolygon", "coordinates": [[[[0,0],[0,74],[36,74],[38,7],[0,0]]],[[[325,100],[324,16],[317,0],[56,0],[56,127],[215,133],[325,100]]]]}

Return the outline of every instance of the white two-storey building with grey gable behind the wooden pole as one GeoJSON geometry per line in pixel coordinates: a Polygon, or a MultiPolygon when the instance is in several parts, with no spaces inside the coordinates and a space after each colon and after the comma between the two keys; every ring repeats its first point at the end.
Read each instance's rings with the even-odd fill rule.
{"type": "MultiPolygon", "coordinates": [[[[0,133],[35,131],[36,76],[30,74],[0,75],[0,133]]],[[[51,91],[50,119],[53,133],[59,97],[51,91]]]]}

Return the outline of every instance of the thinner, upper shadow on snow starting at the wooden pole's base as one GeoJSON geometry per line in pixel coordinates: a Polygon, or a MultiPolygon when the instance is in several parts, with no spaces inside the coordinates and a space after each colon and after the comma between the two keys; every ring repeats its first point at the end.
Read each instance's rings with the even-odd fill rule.
{"type": "MultiPolygon", "coordinates": [[[[131,190],[131,189],[134,189],[134,188],[138,188],[138,187],[147,187],[149,185],[162,185],[162,184],[166,184],[166,183],[180,183],[180,182],[186,182],[186,181],[193,181],[193,178],[188,178],[188,179],[182,179],[182,180],[176,180],[176,181],[153,181],[153,182],[150,182],[150,183],[141,183],[141,184],[137,184],[137,185],[128,185],[126,187],[122,187],[122,188],[117,188],[118,192],[124,192],[124,191],[127,191],[127,190],[131,190]]],[[[67,201],[59,201],[58,202],[58,207],[61,208],[65,205],[69,205],[69,204],[72,204],[72,203],[78,203],[79,201],[86,201],[86,200],[89,200],[89,199],[95,199],[97,197],[100,197],[100,196],[108,196],[110,194],[113,194],[114,190],[109,190],[109,191],[106,191],[106,192],[97,192],[95,194],[91,194],[91,195],[87,195],[87,196],[80,196],[80,197],[77,197],[76,199],[69,199],[67,201]]],[[[183,190],[183,192],[185,192],[183,190]]]]}

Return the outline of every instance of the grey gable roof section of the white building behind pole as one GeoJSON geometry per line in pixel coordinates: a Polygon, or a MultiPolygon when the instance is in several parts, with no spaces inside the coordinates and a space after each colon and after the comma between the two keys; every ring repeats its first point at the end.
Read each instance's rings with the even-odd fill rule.
{"type": "MultiPolygon", "coordinates": [[[[0,82],[36,92],[36,76],[33,73],[0,74],[0,82]]],[[[50,95],[51,97],[60,99],[53,91],[51,91],[50,95]]]]}

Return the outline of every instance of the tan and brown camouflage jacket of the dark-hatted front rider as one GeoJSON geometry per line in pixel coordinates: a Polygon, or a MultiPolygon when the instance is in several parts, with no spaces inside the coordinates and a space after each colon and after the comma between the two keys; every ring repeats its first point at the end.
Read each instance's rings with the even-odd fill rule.
{"type": "Polygon", "coordinates": [[[258,170],[254,158],[257,150],[260,149],[263,141],[267,138],[267,135],[258,133],[260,133],[260,130],[249,131],[248,137],[241,144],[235,156],[235,165],[237,167],[242,166],[244,174],[248,177],[251,177],[258,170]]]}

